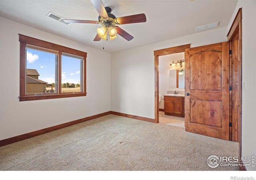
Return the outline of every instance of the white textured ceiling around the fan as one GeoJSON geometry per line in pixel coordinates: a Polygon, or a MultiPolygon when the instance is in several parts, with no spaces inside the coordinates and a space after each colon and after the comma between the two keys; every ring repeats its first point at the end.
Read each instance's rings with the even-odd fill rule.
{"type": "MultiPolygon", "coordinates": [[[[0,16],[80,42],[106,52],[117,52],[153,44],[197,31],[197,26],[219,22],[228,26],[237,0],[102,0],[116,17],[144,13],[147,21],[119,25],[134,36],[127,41],[118,35],[114,40],[94,42],[100,24],[70,24],[46,16],[49,12],[65,19],[98,20],[90,0],[0,0],[0,16]]],[[[3,24],[1,24],[3,26],[3,24]]],[[[208,29],[211,30],[211,29],[208,29]]],[[[205,31],[205,30],[204,30],[205,31]]],[[[26,34],[24,34],[26,35],[26,34]]]]}

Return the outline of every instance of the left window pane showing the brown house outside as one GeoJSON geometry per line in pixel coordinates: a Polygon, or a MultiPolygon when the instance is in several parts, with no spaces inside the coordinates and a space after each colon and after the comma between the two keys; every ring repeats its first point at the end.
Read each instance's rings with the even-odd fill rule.
{"type": "Polygon", "coordinates": [[[57,54],[26,48],[26,94],[56,93],[57,54]]]}

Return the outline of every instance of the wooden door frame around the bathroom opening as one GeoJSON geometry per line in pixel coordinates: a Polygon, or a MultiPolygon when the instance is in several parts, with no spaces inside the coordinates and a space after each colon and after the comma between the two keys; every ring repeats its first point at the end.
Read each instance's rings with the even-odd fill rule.
{"type": "Polygon", "coordinates": [[[160,49],[154,51],[155,57],[155,123],[159,122],[159,56],[164,56],[168,54],[175,54],[180,52],[185,52],[186,48],[190,48],[190,44],[175,46],[172,48],[160,49]]]}

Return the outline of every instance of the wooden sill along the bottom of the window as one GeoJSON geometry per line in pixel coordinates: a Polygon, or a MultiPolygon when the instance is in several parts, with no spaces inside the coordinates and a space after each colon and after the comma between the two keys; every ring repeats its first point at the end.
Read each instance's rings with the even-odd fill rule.
{"type": "Polygon", "coordinates": [[[70,98],[70,97],[79,97],[86,96],[85,92],[76,92],[76,93],[65,93],[65,94],[45,94],[38,96],[20,96],[20,101],[32,101],[32,100],[44,100],[44,99],[56,99],[56,98],[70,98]]]}

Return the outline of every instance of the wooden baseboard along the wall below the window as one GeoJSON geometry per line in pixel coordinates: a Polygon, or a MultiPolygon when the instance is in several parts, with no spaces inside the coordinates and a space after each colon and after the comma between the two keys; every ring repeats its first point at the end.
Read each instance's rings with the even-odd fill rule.
{"type": "Polygon", "coordinates": [[[52,131],[55,131],[55,130],[58,130],[58,129],[66,128],[68,126],[72,126],[72,125],[75,125],[75,124],[78,124],[78,123],[81,123],[81,122],[85,122],[85,121],[88,121],[88,120],[99,118],[101,116],[106,116],[108,114],[111,114],[111,111],[100,113],[100,114],[96,114],[94,116],[89,116],[87,118],[82,118],[82,119],[74,120],[74,121],[71,121],[71,122],[66,122],[64,124],[59,124],[59,125],[52,126],[52,127],[49,127],[49,128],[37,130],[37,131],[34,131],[34,132],[29,132],[29,133],[22,134],[22,135],[19,135],[19,136],[15,136],[15,137],[12,137],[12,138],[0,140],[0,147],[1,146],[5,146],[7,144],[12,144],[14,142],[18,142],[18,141],[21,141],[21,140],[25,140],[25,139],[28,139],[28,138],[32,138],[34,136],[45,134],[47,132],[52,132],[52,131]]]}

